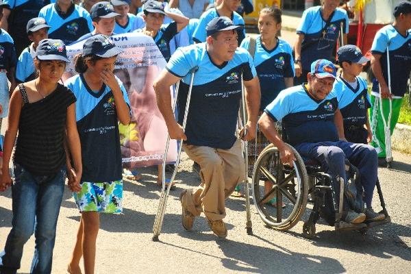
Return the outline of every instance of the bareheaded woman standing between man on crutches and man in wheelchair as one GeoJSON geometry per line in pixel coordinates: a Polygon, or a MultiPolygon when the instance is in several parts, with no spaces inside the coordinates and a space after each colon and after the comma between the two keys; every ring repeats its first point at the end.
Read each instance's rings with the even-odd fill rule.
{"type": "MultiPolygon", "coordinates": [[[[251,51],[258,79],[260,80],[261,102],[260,114],[271,103],[281,90],[293,85],[294,62],[292,49],[288,42],[277,37],[282,23],[282,12],[279,8],[264,8],[258,18],[260,35],[242,41],[240,47],[251,51]],[[252,51],[254,49],[254,51],[252,51]]],[[[258,155],[269,145],[264,134],[258,130],[256,142],[249,142],[249,174],[253,173],[253,163],[258,155]]],[[[273,168],[273,166],[271,166],[273,168]]],[[[264,180],[266,178],[264,177],[264,180]]],[[[265,182],[265,192],[273,187],[271,182],[265,182]]],[[[239,189],[236,189],[236,191],[239,189]]],[[[266,203],[275,206],[275,198],[266,203]]]]}

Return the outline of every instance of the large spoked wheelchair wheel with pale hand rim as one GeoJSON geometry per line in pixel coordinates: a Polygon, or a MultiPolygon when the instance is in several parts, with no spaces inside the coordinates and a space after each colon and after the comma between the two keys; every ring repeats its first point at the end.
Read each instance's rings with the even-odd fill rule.
{"type": "Polygon", "coordinates": [[[262,221],[269,227],[288,230],[296,225],[306,210],[308,175],[299,153],[286,144],[297,159],[293,166],[282,164],[279,151],[273,144],[267,146],[256,160],[253,172],[253,201],[262,221]],[[264,190],[264,180],[272,184],[264,190]],[[266,192],[266,193],[265,193],[266,192]],[[266,202],[276,198],[276,206],[266,202]],[[282,203],[286,207],[282,208],[282,203]]]}

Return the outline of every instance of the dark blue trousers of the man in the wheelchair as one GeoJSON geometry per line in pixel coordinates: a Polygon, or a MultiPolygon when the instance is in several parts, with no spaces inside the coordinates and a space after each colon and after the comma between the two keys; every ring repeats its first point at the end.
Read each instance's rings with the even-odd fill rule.
{"type": "Polygon", "coordinates": [[[347,180],[345,175],[345,158],[357,167],[364,188],[364,198],[367,208],[371,208],[375,183],[377,182],[377,151],[370,145],[353,142],[303,142],[295,149],[301,156],[316,159],[332,176],[347,180]]]}

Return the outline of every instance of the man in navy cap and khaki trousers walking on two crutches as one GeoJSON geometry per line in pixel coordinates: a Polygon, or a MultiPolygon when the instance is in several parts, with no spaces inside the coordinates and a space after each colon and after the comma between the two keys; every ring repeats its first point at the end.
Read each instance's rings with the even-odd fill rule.
{"type": "Polygon", "coordinates": [[[228,17],[214,18],[206,27],[206,42],[178,49],[154,82],[158,108],[170,137],[184,140],[184,151],[201,169],[200,186],[180,196],[183,227],[190,230],[195,217],[204,212],[210,228],[220,238],[227,236],[223,222],[225,199],[245,179],[245,161],[236,137],[242,79],[248,113],[248,121],[239,134],[242,140],[254,138],[260,106],[260,85],[251,55],[245,49],[237,49],[238,28],[228,17]],[[187,101],[189,72],[195,67],[198,70],[187,101]],[[179,117],[175,121],[170,86],[180,79],[179,117]],[[184,131],[186,107],[189,110],[184,131]]]}

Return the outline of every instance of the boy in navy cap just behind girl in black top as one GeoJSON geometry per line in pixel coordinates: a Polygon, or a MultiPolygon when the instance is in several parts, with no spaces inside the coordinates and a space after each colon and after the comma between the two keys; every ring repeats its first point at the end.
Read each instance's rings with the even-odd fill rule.
{"type": "Polygon", "coordinates": [[[36,78],[36,68],[34,66],[34,58],[36,57],[36,49],[38,43],[48,37],[50,26],[46,24],[45,18],[36,17],[29,20],[27,23],[27,36],[32,44],[26,47],[17,61],[16,67],[16,82],[24,83],[36,78]]]}

